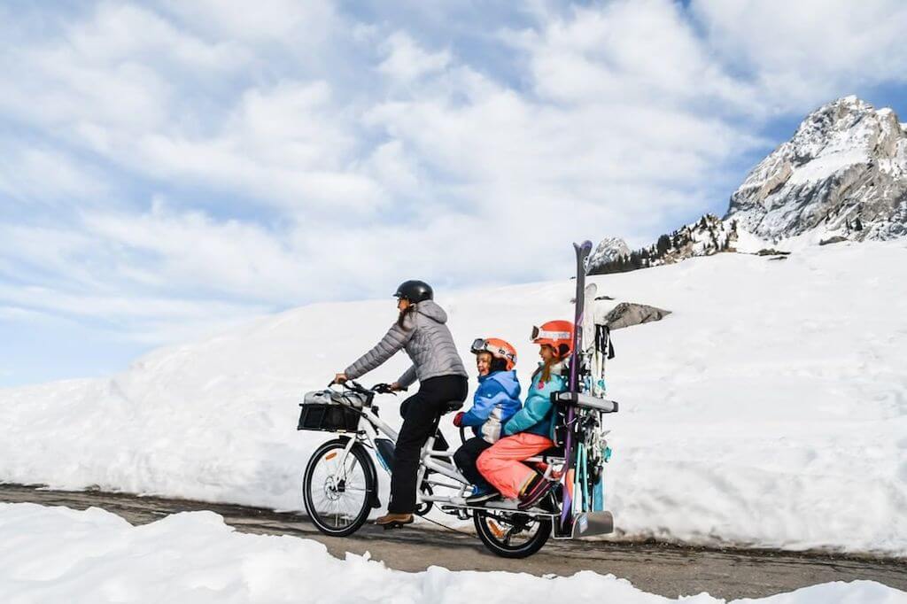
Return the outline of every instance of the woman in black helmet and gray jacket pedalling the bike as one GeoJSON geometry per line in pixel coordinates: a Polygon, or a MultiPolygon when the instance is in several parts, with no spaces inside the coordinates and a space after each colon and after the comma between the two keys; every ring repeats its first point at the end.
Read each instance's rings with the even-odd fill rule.
{"type": "Polygon", "coordinates": [[[447,405],[462,403],[468,392],[466,369],[444,325],[447,314],[434,303],[432,287],[424,281],[405,281],[397,287],[395,297],[400,311],[395,324],[374,348],[335,376],[337,383],[357,379],[401,348],[413,361],[413,366],[391,385],[392,390],[403,390],[419,380],[419,391],[400,405],[404,421],[394,450],[391,498],[387,513],[375,521],[385,528],[413,521],[419,453],[437,429],[447,405]]]}

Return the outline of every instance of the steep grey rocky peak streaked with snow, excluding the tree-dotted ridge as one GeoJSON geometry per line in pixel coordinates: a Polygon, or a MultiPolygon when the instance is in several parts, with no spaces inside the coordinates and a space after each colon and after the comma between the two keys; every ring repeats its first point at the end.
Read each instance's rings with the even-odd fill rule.
{"type": "Polygon", "coordinates": [[[830,102],[749,173],[725,218],[775,242],[907,235],[907,129],[855,96],[830,102]]]}

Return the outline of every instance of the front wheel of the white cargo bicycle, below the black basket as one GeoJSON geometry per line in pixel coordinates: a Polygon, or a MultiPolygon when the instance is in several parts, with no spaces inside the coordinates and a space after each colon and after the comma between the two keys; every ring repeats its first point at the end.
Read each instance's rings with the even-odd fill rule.
{"type": "Polygon", "coordinates": [[[328,441],[308,460],[302,497],[318,531],[346,537],[368,520],[377,489],[375,468],[365,448],[354,443],[346,457],[346,440],[328,441]]]}

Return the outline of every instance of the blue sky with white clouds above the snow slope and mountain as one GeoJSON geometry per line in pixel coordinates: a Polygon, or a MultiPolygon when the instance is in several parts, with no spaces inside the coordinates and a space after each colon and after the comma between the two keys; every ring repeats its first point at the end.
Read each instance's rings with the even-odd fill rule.
{"type": "MultiPolygon", "coordinates": [[[[901,2],[0,6],[0,386],[312,301],[559,278],[723,213],[807,112],[907,120],[901,2]]],[[[352,317],[351,317],[352,318],[352,317]]]]}

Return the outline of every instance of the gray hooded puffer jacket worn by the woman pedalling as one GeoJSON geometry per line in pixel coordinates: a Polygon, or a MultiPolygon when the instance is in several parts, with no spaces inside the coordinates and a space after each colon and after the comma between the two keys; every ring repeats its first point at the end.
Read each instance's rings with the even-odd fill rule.
{"type": "Polygon", "coordinates": [[[394,356],[401,348],[413,359],[413,366],[400,376],[401,386],[412,384],[416,377],[424,382],[438,375],[466,375],[463,360],[453,346],[450,329],[444,325],[447,313],[433,300],[415,304],[404,317],[403,326],[394,323],[381,341],[346,367],[346,377],[355,380],[394,356]]]}

